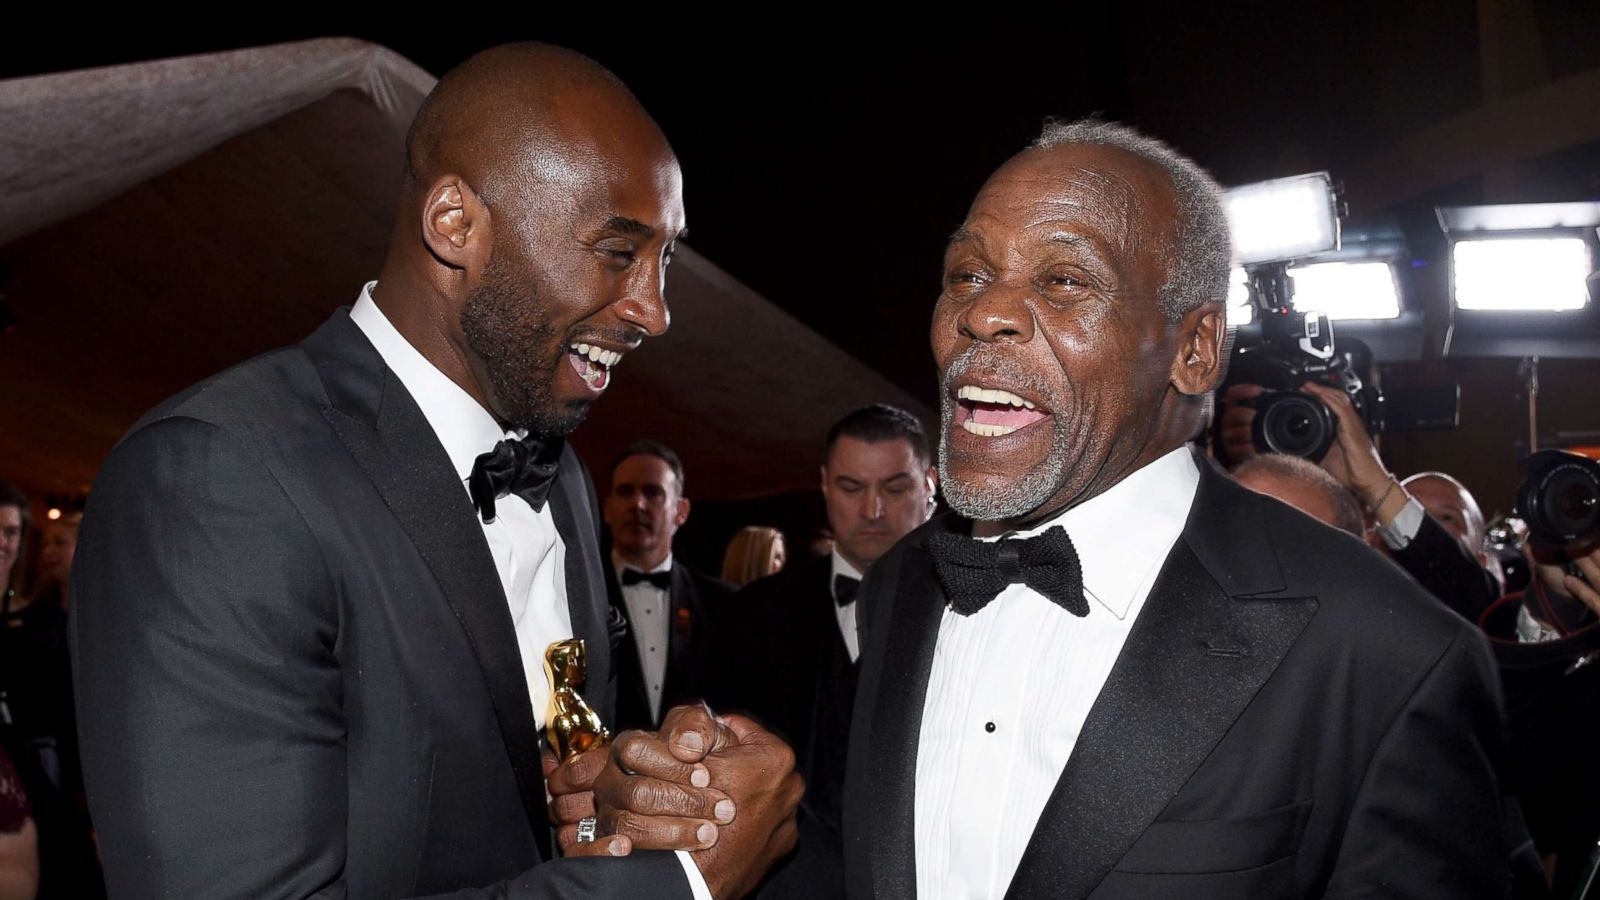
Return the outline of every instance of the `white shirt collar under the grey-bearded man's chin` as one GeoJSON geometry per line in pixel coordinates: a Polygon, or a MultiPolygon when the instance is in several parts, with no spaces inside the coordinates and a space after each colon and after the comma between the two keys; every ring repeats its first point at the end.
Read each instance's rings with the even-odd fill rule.
{"type": "MultiPolygon", "coordinates": [[[[1083,593],[1114,617],[1128,615],[1139,588],[1165,562],[1189,520],[1200,469],[1189,445],[1152,461],[1110,490],[1026,532],[1032,538],[1061,525],[1083,565],[1083,593]]],[[[989,538],[998,540],[998,538],[989,538]]]]}

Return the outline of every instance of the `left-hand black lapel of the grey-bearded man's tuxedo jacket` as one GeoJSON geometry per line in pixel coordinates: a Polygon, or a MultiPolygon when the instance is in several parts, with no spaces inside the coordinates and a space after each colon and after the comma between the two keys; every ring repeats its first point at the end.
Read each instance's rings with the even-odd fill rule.
{"type": "MultiPolygon", "coordinates": [[[[874,628],[882,623],[888,629],[869,719],[867,809],[874,818],[856,825],[870,833],[875,897],[917,895],[917,743],[946,604],[944,588],[933,575],[933,557],[920,543],[907,546],[894,605],[874,620],[874,628]]],[[[861,722],[858,716],[856,727],[861,722]]]]}

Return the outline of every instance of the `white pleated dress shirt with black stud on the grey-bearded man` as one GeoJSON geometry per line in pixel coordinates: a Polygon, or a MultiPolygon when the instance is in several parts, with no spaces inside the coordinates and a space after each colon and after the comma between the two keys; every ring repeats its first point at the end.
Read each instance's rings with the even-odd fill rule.
{"type": "Polygon", "coordinates": [[[917,751],[918,897],[1005,895],[1198,484],[1181,447],[1106,493],[1005,535],[1067,530],[1083,565],[1083,618],[1026,585],[971,617],[944,610],[917,751]]]}

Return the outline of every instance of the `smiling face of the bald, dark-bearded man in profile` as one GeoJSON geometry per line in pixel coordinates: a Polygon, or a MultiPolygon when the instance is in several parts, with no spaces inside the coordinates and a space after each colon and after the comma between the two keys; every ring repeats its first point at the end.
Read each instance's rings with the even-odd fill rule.
{"type": "Polygon", "coordinates": [[[525,203],[490,203],[493,255],[461,333],[498,418],[566,434],[622,356],[666,331],[683,187],[670,149],[651,138],[566,147],[560,165],[533,167],[539,184],[525,203]]]}

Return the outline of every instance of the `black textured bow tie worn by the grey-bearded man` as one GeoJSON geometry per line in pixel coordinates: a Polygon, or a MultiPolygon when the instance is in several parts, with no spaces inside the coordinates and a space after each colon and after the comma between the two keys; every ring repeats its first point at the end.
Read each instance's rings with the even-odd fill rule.
{"type": "Polygon", "coordinates": [[[973,615],[1008,585],[1027,585],[1072,615],[1088,615],[1078,551],[1061,525],[1037,538],[978,541],[962,535],[933,535],[933,570],[950,596],[950,609],[973,615]]]}

